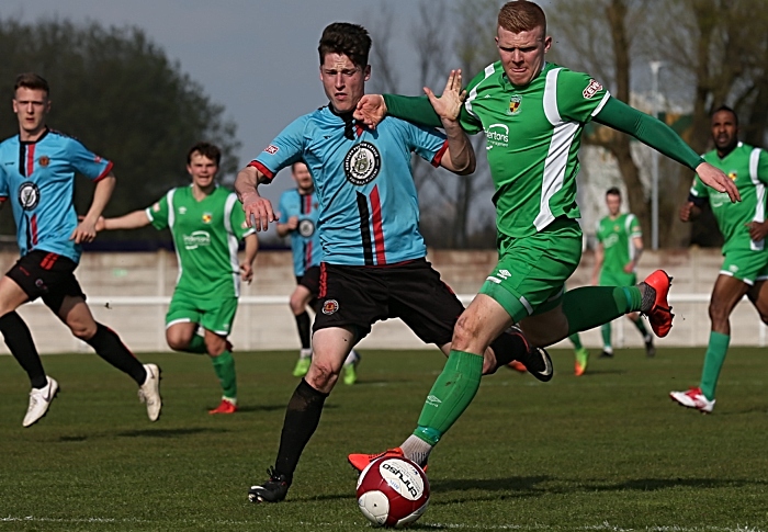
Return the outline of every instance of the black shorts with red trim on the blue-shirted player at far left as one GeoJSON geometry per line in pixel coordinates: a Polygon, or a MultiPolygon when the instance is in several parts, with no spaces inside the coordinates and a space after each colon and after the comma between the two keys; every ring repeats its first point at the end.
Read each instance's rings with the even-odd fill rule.
{"type": "Polygon", "coordinates": [[[36,249],[19,259],[5,275],[21,286],[30,301],[42,297],[58,314],[66,296],[86,299],[75,279],[76,268],[77,262],[67,257],[36,249]]]}

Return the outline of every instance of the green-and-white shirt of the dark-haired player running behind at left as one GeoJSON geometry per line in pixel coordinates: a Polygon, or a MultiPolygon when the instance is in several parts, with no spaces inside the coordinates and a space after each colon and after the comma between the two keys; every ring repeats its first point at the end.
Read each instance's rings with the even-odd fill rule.
{"type": "Polygon", "coordinates": [[[170,190],[146,210],[157,229],[170,228],[179,260],[177,291],[214,299],[240,295],[238,240],[253,233],[246,226],[237,196],[216,186],[202,201],[192,186],[170,190]]]}

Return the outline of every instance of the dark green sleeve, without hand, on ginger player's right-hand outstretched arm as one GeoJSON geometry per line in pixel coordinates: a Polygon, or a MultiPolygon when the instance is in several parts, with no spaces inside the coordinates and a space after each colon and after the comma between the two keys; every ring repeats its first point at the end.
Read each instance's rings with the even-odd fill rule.
{"type": "Polygon", "coordinates": [[[615,98],[608,99],[606,105],[595,116],[595,122],[632,135],[641,143],[691,170],[696,170],[696,167],[704,162],[704,159],[667,124],[615,98]]]}

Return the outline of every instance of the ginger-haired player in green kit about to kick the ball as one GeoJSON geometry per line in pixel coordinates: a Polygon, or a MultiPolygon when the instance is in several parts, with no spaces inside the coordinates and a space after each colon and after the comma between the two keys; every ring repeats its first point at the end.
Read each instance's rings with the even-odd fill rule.
{"type": "MultiPolygon", "coordinates": [[[[431,450],[471,404],[492,338],[519,324],[533,347],[550,346],[575,331],[642,312],[654,332],[671,328],[670,279],[657,270],[636,286],[585,286],[564,293],[581,257],[576,204],[578,149],[584,126],[595,120],[629,133],[696,169],[704,183],[732,200],[738,192],[720,170],[704,162],[664,123],[611,98],[588,75],[546,63],[552,45],[546,18],[528,1],[507,2],[497,22],[500,60],[488,65],[461,91],[451,72],[442,98],[369,94],[355,118],[373,127],[389,114],[421,125],[456,120],[471,134],[484,133],[496,192],[499,262],[479,294],[456,321],[451,352],[421,410],[417,428],[389,453],[421,466],[431,450]],[[464,100],[465,98],[465,100],[464,100]],[[456,116],[458,115],[458,116],[456,116]]],[[[381,453],[386,454],[386,453],[381,453]]],[[[352,454],[365,467],[376,455],[352,454]]]]}

